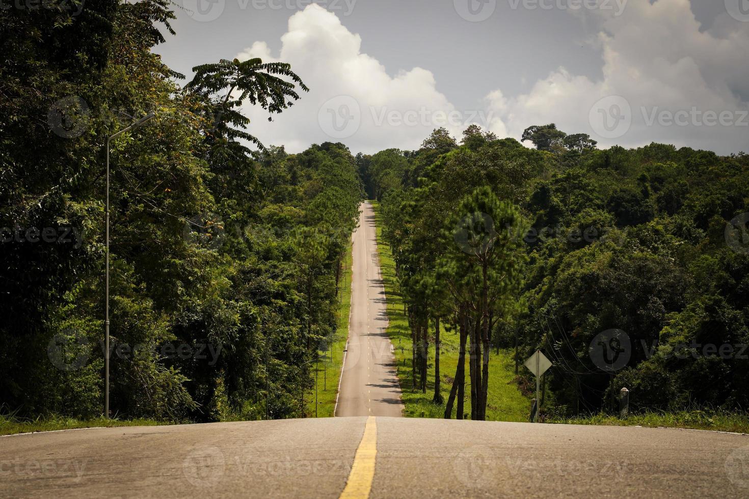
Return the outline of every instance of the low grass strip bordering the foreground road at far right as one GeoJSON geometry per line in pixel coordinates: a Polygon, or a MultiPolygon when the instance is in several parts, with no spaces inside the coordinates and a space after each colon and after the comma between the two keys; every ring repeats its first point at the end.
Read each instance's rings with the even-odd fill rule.
{"type": "Polygon", "coordinates": [[[685,429],[709,429],[718,432],[749,433],[749,413],[727,411],[646,411],[620,418],[607,414],[551,420],[550,423],[596,424],[606,426],[649,426],[685,429]]]}

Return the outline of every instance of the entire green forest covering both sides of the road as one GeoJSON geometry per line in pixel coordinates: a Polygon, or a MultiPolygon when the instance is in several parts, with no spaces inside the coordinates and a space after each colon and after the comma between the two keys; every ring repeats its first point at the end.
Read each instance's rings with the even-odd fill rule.
{"type": "Polygon", "coordinates": [[[181,85],[151,52],[175,34],[171,2],[65,4],[0,10],[1,412],[102,414],[107,196],[117,417],[308,415],[366,198],[422,391],[458,335],[468,372],[432,385],[447,417],[470,397],[485,419],[500,349],[554,362],[550,415],[613,411],[621,388],[634,411],[749,406],[746,154],[600,149],[554,124],[290,154],[243,114],[304,98],[289,64],[206,61],[181,85]],[[151,112],[112,139],[108,180],[108,138],[151,112]]]}

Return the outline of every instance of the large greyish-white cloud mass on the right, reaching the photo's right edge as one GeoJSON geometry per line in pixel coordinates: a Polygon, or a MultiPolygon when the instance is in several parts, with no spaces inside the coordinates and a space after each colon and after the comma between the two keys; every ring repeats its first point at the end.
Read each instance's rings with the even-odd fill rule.
{"type": "Polygon", "coordinates": [[[497,132],[506,127],[519,137],[529,125],[554,122],[567,132],[590,133],[601,146],[657,141],[719,153],[749,150],[749,23],[723,14],[700,32],[688,0],[630,0],[621,16],[597,16],[602,79],[555,70],[527,94],[490,105],[497,132]],[[604,101],[604,114],[590,113],[609,96],[625,101],[604,101]],[[612,102],[631,107],[631,123],[622,121],[615,138],[604,138],[595,130],[604,118],[614,127],[616,113],[607,114],[612,102]]]}

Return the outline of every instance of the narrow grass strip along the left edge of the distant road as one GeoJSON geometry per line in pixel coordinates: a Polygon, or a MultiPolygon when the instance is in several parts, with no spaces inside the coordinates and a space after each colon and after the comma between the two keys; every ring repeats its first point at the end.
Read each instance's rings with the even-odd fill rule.
{"type": "MultiPolygon", "coordinates": [[[[317,386],[318,386],[318,417],[333,417],[336,410],[336,397],[338,397],[338,382],[341,378],[341,367],[343,365],[343,350],[346,348],[348,338],[348,315],[351,310],[351,242],[348,244],[346,256],[342,262],[343,271],[339,284],[339,313],[338,328],[330,350],[319,352],[317,386]]],[[[314,364],[312,364],[314,370],[314,364]]],[[[306,394],[306,416],[315,417],[315,388],[306,394]]]]}

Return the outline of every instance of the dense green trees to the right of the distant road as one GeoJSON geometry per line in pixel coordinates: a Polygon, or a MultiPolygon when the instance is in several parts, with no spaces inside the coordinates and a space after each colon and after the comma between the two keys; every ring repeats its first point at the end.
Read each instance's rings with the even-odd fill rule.
{"type": "MultiPolygon", "coordinates": [[[[521,363],[539,348],[554,361],[547,407],[560,416],[607,410],[624,387],[634,409],[746,408],[749,156],[663,144],[597,150],[587,135],[554,124],[531,126],[523,138],[536,149],[476,126],[458,145],[439,129],[418,151],[357,157],[369,168],[366,189],[382,200],[383,236],[411,314],[421,316],[412,324],[421,355],[439,341],[437,328],[416,339],[425,317],[455,328],[470,358],[483,355],[473,331],[488,312],[493,346],[517,346],[521,363]],[[476,305],[475,283],[456,286],[470,272],[449,263],[466,253],[464,215],[473,213],[479,243],[508,230],[506,215],[486,204],[466,209],[479,192],[514,203],[526,220],[515,238],[527,257],[521,290],[508,282],[488,308],[476,305]],[[429,286],[419,286],[423,275],[429,286]]],[[[474,384],[482,388],[480,373],[474,384]]]]}

